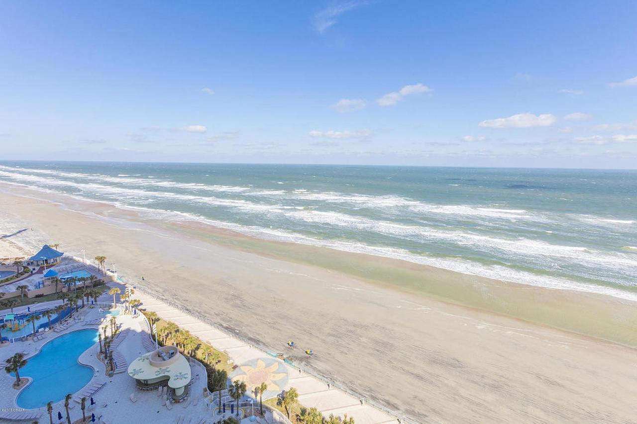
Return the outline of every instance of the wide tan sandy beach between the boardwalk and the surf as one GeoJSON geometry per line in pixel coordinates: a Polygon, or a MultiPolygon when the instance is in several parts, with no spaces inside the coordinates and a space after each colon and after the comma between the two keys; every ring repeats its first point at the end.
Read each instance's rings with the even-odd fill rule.
{"type": "Polygon", "coordinates": [[[0,257],[47,242],[104,255],[127,281],[263,348],[313,349],[297,364],[413,420],[637,422],[627,300],[0,190],[2,235],[27,229],[0,239],[0,257]]]}

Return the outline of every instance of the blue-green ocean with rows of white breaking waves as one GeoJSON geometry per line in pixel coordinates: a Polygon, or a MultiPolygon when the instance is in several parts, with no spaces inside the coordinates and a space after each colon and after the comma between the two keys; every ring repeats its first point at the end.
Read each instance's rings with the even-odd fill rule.
{"type": "Polygon", "coordinates": [[[263,239],[637,300],[637,171],[0,162],[0,181],[263,239]]]}

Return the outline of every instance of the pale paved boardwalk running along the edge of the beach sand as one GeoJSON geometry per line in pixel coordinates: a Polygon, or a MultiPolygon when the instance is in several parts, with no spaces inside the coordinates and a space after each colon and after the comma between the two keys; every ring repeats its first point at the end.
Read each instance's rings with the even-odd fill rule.
{"type": "MultiPolygon", "coordinates": [[[[109,283],[115,286],[117,283],[109,283]]],[[[125,286],[120,286],[122,293],[125,286]]],[[[156,299],[152,295],[141,292],[138,288],[134,298],[140,299],[142,306],[149,311],[154,311],[160,318],[176,323],[185,330],[189,330],[193,336],[199,337],[204,342],[210,344],[220,351],[224,351],[234,361],[234,364],[245,364],[250,360],[268,357],[268,354],[250,344],[241,341],[225,332],[215,329],[207,323],[201,322],[198,318],[185,313],[184,311],[170,306],[162,300],[156,299]]],[[[104,301],[108,297],[104,296],[104,301]]],[[[110,297],[112,302],[113,297],[110,297]]],[[[271,358],[271,357],[269,357],[271,358]]],[[[327,383],[320,381],[314,376],[310,376],[296,367],[292,367],[280,361],[287,369],[289,379],[285,390],[290,387],[296,388],[299,393],[299,403],[305,407],[316,407],[324,416],[334,414],[337,416],[351,416],[356,424],[380,424],[397,423],[396,418],[376,409],[368,404],[362,404],[361,400],[355,398],[341,390],[330,388],[327,383]]]]}

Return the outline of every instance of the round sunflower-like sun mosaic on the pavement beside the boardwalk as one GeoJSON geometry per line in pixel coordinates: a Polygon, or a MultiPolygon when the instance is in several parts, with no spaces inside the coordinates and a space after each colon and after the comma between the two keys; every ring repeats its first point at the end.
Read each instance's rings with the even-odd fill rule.
{"type": "MultiPolygon", "coordinates": [[[[244,381],[248,388],[247,395],[254,397],[254,388],[266,383],[268,390],[263,399],[270,399],[281,393],[289,379],[287,367],[274,358],[258,358],[240,365],[230,374],[232,381],[244,381]]],[[[257,398],[258,399],[258,398],[257,398]]]]}

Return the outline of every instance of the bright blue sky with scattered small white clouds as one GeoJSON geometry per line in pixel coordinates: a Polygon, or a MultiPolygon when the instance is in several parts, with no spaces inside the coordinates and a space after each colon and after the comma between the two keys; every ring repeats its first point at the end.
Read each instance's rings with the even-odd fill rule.
{"type": "Polygon", "coordinates": [[[637,167],[637,2],[0,3],[0,157],[637,167]]]}

